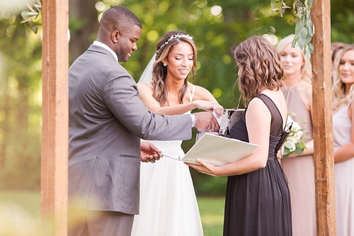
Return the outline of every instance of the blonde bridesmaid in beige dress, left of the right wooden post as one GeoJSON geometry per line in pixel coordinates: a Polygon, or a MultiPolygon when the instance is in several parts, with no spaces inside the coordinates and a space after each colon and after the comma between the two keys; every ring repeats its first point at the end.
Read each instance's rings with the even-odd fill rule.
{"type": "Polygon", "coordinates": [[[306,149],[301,155],[282,158],[289,181],[292,206],[292,235],[316,235],[316,199],[312,140],[311,64],[299,47],[292,47],[294,35],[279,41],[277,50],[286,76],[282,92],[292,120],[307,134],[306,149]]]}

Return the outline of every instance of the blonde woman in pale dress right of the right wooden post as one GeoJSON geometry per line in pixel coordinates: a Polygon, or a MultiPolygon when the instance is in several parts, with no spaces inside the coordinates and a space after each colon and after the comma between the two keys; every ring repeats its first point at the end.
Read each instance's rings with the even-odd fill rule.
{"type": "Polygon", "coordinates": [[[354,235],[354,45],[339,55],[333,81],[337,235],[354,235]]]}

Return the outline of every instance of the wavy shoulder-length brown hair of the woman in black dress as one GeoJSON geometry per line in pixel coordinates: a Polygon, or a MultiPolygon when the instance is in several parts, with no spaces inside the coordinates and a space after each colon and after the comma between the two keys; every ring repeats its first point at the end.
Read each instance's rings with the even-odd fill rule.
{"type": "Polygon", "coordinates": [[[285,80],[280,57],[275,47],[261,36],[240,43],[233,52],[239,67],[239,90],[245,102],[262,89],[279,90],[285,80]]]}

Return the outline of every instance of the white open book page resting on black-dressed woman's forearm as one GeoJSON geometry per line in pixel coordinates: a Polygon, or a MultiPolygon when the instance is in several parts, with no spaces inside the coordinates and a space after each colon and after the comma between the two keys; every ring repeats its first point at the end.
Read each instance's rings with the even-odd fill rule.
{"type": "Polygon", "coordinates": [[[196,160],[202,159],[215,166],[222,166],[247,157],[256,147],[258,145],[249,142],[205,133],[184,157],[171,158],[193,164],[199,164],[196,160]]]}

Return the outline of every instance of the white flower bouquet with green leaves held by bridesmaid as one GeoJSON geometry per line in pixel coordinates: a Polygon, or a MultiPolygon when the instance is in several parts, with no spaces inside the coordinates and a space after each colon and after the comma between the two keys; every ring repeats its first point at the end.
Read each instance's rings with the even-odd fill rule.
{"type": "Polygon", "coordinates": [[[290,154],[302,154],[304,152],[305,143],[304,143],[304,131],[302,130],[299,123],[296,123],[290,116],[287,116],[287,124],[292,127],[290,128],[290,133],[287,136],[287,139],[284,143],[284,153],[283,157],[289,157],[290,154]]]}

